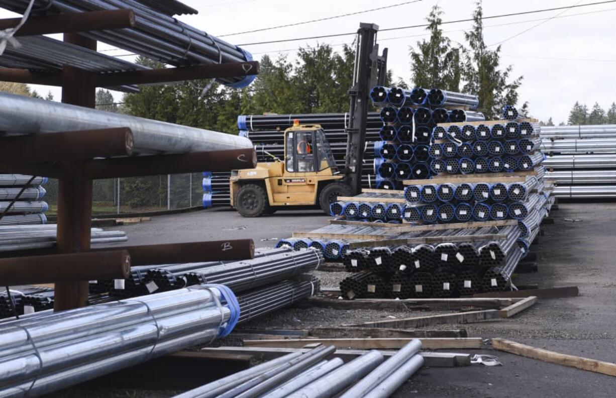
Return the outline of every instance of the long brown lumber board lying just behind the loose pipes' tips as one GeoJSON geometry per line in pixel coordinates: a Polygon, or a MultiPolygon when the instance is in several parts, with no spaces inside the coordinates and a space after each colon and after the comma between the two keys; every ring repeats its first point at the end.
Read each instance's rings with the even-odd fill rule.
{"type": "MultiPolygon", "coordinates": [[[[302,348],[306,344],[324,344],[352,349],[400,349],[415,338],[299,338],[244,340],[245,347],[293,347],[302,348]]],[[[482,338],[421,338],[423,349],[480,349],[482,338]]]]}

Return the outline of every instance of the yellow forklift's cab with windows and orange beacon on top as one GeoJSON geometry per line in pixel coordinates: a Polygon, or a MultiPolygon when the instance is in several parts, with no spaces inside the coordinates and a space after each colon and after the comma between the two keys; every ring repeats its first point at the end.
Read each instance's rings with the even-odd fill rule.
{"type": "Polygon", "coordinates": [[[318,173],[330,168],[338,174],[330,143],[321,126],[299,122],[285,131],[285,174],[318,173]]]}

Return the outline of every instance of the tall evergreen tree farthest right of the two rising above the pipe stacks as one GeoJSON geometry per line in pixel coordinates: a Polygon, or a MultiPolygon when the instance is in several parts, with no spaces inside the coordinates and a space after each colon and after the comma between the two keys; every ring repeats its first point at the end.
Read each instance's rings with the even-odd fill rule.
{"type": "MultiPolygon", "coordinates": [[[[489,50],[484,41],[483,9],[481,2],[473,14],[472,30],[464,33],[469,50],[464,52],[463,92],[476,94],[479,97],[479,107],[487,120],[500,116],[505,105],[516,105],[517,89],[522,84],[522,76],[510,81],[513,67],[508,65],[500,70],[501,47],[489,50]]],[[[528,112],[528,104],[519,108],[522,114],[528,112]]]]}

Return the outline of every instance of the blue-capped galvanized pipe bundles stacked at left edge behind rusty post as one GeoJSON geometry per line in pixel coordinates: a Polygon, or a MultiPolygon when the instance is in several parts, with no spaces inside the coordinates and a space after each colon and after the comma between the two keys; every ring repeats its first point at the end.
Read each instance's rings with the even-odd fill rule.
{"type": "Polygon", "coordinates": [[[46,177],[23,176],[22,174],[0,174],[0,214],[10,203],[15,204],[0,219],[0,225],[46,224],[45,212],[49,209],[43,201],[46,177]],[[19,193],[22,191],[21,195],[19,193]]]}

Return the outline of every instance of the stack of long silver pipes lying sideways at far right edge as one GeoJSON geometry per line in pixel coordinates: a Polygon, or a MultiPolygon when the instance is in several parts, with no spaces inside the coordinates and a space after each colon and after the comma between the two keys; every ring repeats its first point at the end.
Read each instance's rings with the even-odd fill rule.
{"type": "Polygon", "coordinates": [[[554,197],[616,197],[616,124],[541,127],[554,197]]]}

